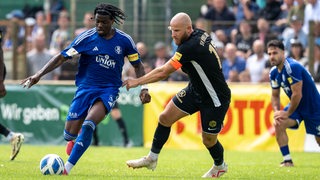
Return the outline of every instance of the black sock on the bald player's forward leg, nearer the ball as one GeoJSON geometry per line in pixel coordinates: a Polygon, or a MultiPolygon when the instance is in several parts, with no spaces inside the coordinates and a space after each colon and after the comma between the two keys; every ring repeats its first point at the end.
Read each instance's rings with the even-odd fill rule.
{"type": "Polygon", "coordinates": [[[158,127],[153,136],[151,151],[159,154],[163,145],[167,142],[171,127],[166,127],[158,123],[158,127]]]}

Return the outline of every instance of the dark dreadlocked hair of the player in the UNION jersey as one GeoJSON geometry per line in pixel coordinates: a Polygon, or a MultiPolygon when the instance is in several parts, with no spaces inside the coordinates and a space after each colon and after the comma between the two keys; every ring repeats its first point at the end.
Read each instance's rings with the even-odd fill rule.
{"type": "Polygon", "coordinates": [[[97,5],[94,9],[94,16],[96,14],[108,15],[114,19],[116,24],[122,24],[122,21],[126,19],[126,15],[121,9],[106,3],[100,3],[97,5]]]}

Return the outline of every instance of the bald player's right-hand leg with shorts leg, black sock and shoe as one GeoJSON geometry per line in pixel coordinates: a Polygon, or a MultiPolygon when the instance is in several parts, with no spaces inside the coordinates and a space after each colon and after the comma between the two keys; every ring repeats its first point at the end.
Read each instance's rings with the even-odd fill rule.
{"type": "Polygon", "coordinates": [[[213,107],[213,105],[208,105],[200,109],[202,142],[214,161],[213,166],[202,177],[220,177],[228,170],[228,166],[224,162],[224,149],[218,140],[218,134],[222,130],[229,104],[213,107]]]}

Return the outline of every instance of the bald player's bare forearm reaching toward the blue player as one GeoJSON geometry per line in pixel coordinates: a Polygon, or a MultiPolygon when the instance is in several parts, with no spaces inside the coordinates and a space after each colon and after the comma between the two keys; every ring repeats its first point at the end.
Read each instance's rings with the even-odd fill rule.
{"type": "Polygon", "coordinates": [[[153,69],[151,72],[140,78],[124,81],[123,86],[126,86],[127,90],[129,90],[130,88],[134,88],[139,85],[157,82],[167,78],[174,71],[176,71],[176,69],[171,65],[171,62],[168,61],[163,66],[153,69]]]}

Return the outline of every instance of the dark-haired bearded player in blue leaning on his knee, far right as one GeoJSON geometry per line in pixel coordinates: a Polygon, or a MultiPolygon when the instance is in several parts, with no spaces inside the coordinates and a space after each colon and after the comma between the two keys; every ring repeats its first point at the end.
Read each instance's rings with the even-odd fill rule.
{"type": "Polygon", "coordinates": [[[272,87],[276,139],[283,156],[281,167],[293,166],[288,146],[287,128],[297,129],[304,120],[306,132],[313,134],[320,145],[320,95],[310,73],[292,58],[285,58],[284,45],[279,40],[267,44],[272,87]],[[280,110],[280,87],[290,103],[280,110]]]}

